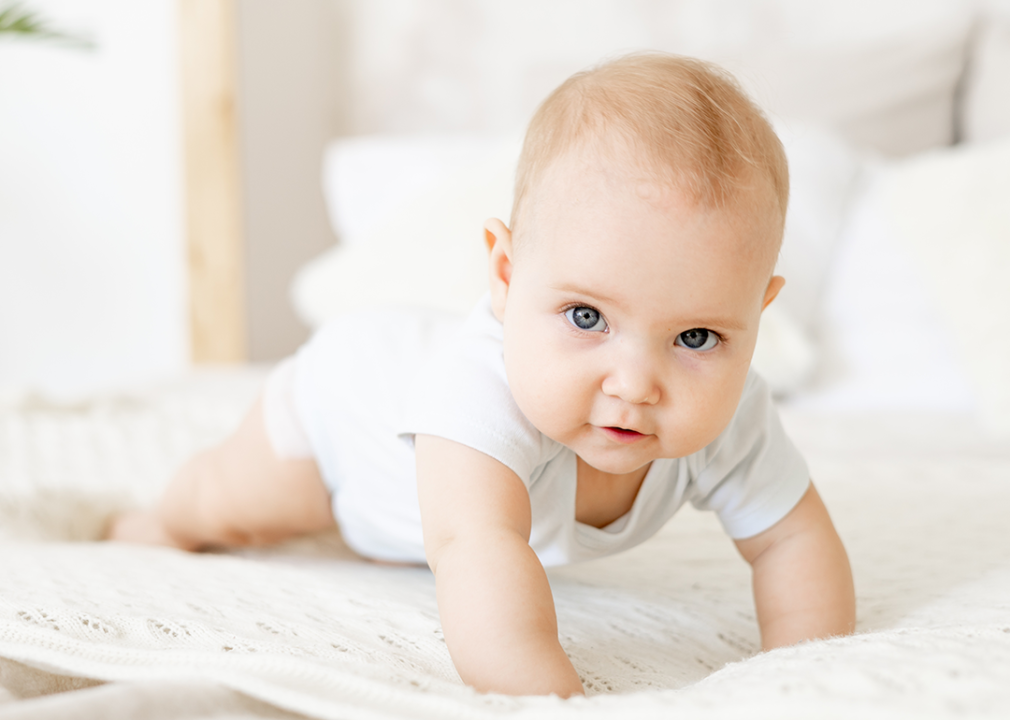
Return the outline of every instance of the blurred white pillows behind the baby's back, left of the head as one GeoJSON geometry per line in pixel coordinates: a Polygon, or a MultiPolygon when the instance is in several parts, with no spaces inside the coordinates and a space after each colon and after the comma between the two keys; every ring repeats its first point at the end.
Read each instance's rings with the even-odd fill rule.
{"type": "Polygon", "coordinates": [[[324,187],[340,242],[295,276],[301,320],[318,327],[403,304],[468,313],[488,289],[484,221],[508,222],[519,145],[511,136],[334,142],[324,187]]]}

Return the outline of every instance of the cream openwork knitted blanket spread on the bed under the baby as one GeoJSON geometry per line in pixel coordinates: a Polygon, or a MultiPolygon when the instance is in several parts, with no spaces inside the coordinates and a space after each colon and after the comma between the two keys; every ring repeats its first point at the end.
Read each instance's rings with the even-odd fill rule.
{"type": "Polygon", "coordinates": [[[589,694],[561,701],[463,686],[428,571],[335,535],[228,554],[88,541],[258,380],[0,410],[0,717],[1010,716],[1010,449],[965,418],[785,415],[848,547],[858,634],[758,653],[748,570],[686,509],[551,571],[589,694]]]}

